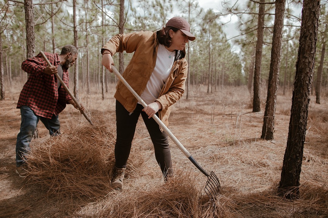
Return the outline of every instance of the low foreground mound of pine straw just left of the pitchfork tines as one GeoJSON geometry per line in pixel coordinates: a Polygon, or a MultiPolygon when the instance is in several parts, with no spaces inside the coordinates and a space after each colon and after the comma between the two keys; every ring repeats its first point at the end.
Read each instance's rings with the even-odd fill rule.
{"type": "Polygon", "coordinates": [[[149,190],[116,193],[108,207],[90,217],[201,217],[199,194],[195,181],[180,171],[170,181],[159,182],[149,190]]]}

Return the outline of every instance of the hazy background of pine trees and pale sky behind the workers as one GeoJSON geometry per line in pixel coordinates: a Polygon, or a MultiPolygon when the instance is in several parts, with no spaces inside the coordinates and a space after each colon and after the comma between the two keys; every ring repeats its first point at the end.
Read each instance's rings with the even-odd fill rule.
{"type": "MultiPolygon", "coordinates": [[[[34,3],[35,33],[28,33],[28,36],[35,34],[32,55],[40,50],[59,53],[65,44],[75,44],[79,48],[78,64],[75,69],[70,69],[72,74],[77,75],[78,81],[81,81],[81,85],[75,84],[77,91],[79,88],[90,89],[90,83],[101,87],[102,74],[106,77],[105,89],[107,83],[114,80],[112,74],[103,72],[100,63],[100,48],[110,37],[119,32],[158,30],[172,16],[186,17],[196,36],[196,40],[189,42],[186,48],[190,64],[190,84],[206,84],[209,91],[218,86],[245,84],[252,89],[259,6],[254,1],[231,0],[218,5],[214,2],[213,8],[207,10],[200,8],[195,0],[26,1],[28,2],[34,3]],[[123,19],[120,19],[120,13],[123,19]],[[237,18],[238,22],[229,22],[231,17],[237,18]],[[240,35],[228,39],[222,27],[229,28],[232,25],[239,29],[240,35]]],[[[320,58],[324,54],[321,51],[326,43],[328,12],[325,4],[326,1],[321,1],[313,87],[317,84],[320,58]]],[[[299,0],[286,1],[279,76],[279,86],[283,90],[292,87],[294,82],[301,16],[295,14],[295,8],[299,11],[301,7],[299,0]]],[[[264,13],[260,71],[263,86],[267,84],[269,77],[275,4],[266,4],[264,13]]],[[[12,79],[25,75],[20,64],[27,58],[26,31],[24,2],[1,0],[1,78],[9,84],[12,79]]],[[[114,57],[118,59],[118,56],[114,57]]],[[[121,60],[123,66],[126,66],[130,57],[131,54],[124,54],[124,59],[121,60]]],[[[118,66],[119,61],[115,62],[118,66]]],[[[327,63],[327,56],[323,63],[327,63]]],[[[327,85],[327,74],[327,64],[323,64],[323,87],[327,85]]],[[[1,90],[4,92],[4,88],[1,90]]]]}

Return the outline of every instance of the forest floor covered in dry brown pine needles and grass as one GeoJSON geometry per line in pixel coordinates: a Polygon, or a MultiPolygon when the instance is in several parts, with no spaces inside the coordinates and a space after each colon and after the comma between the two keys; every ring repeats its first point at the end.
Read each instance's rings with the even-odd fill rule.
{"type": "MultiPolygon", "coordinates": [[[[265,141],[260,136],[266,90],[261,90],[261,112],[252,113],[252,96],[246,87],[217,88],[207,93],[207,87],[193,86],[189,98],[186,99],[185,94],[173,106],[169,129],[205,170],[214,171],[219,178],[220,194],[215,204],[211,204],[204,197],[206,176],[172,141],[175,176],[172,182],[164,183],[142,119],[137,125],[130,157],[130,165],[134,166],[130,166],[121,192],[110,188],[111,175],[107,174],[106,178],[104,172],[111,171],[110,167],[100,166],[92,171],[95,174],[104,172],[105,175],[95,177],[96,184],[89,181],[93,179],[92,175],[81,177],[75,174],[73,168],[76,165],[71,169],[68,166],[66,170],[69,170],[65,171],[67,184],[63,184],[61,174],[64,173],[58,169],[62,164],[60,160],[55,168],[49,164],[47,169],[47,165],[42,165],[46,161],[43,157],[35,158],[31,163],[31,174],[20,178],[15,173],[15,142],[20,126],[16,103],[22,86],[23,83],[18,81],[6,86],[6,99],[0,102],[0,217],[328,217],[326,95],[321,96],[321,104],[315,104],[312,95],[300,175],[300,197],[286,200],[277,195],[277,186],[288,137],[292,91],[285,95],[278,92],[274,140],[265,141]],[[39,165],[36,163],[43,166],[43,171],[52,170],[51,173],[42,177],[44,174],[38,174],[39,165]],[[51,174],[56,174],[57,178],[51,174]],[[58,177],[61,177],[61,183],[58,177]],[[73,189],[69,187],[72,184],[73,189]]],[[[38,152],[47,156],[47,149],[50,157],[51,152],[56,153],[50,147],[55,149],[56,144],[60,144],[56,149],[71,152],[83,139],[83,144],[91,150],[82,151],[85,161],[77,156],[80,159],[77,161],[81,161],[77,165],[88,163],[90,159],[94,166],[99,164],[95,159],[103,154],[104,144],[112,146],[112,139],[115,139],[114,86],[109,85],[104,100],[100,87],[93,87],[90,94],[81,88],[80,102],[90,113],[94,127],[70,105],[59,116],[63,137],[51,139],[40,122],[40,138],[31,143],[34,157],[38,152]],[[92,137],[89,136],[91,133],[92,137]],[[95,134],[100,135],[94,137],[95,134]],[[47,150],[45,155],[43,148],[47,150]]],[[[111,146],[106,148],[110,155],[113,154],[111,146]]],[[[69,158],[74,159],[74,154],[70,153],[69,158]]],[[[103,159],[99,161],[104,162],[103,159]]]]}

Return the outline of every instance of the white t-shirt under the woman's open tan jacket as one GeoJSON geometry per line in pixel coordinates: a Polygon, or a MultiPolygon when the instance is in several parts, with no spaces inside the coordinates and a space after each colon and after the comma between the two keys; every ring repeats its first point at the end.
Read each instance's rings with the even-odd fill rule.
{"type": "MultiPolygon", "coordinates": [[[[149,105],[158,98],[166,80],[169,78],[171,68],[175,58],[175,50],[168,51],[164,45],[158,45],[156,65],[146,89],[141,94],[141,99],[149,105]]],[[[140,102],[138,102],[140,104],[140,102]]]]}

